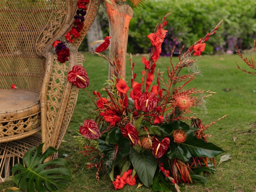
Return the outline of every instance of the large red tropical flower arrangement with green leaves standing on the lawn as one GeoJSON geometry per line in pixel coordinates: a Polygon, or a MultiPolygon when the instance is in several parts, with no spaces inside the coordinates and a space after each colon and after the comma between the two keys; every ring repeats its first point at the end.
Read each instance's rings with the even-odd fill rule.
{"type": "MultiPolygon", "coordinates": [[[[182,190],[180,183],[206,182],[208,174],[214,172],[214,157],[224,151],[207,142],[210,135],[204,130],[215,124],[220,118],[204,126],[199,118],[188,116],[191,108],[200,106],[204,98],[214,92],[184,89],[184,86],[193,80],[198,72],[179,75],[182,68],[192,67],[206,46],[206,41],[220,27],[222,21],[204,38],[195,42],[186,52],[178,56],[179,62],[167,66],[167,75],[156,70],[156,62],[160,58],[161,44],[164,42],[166,30],[166,14],[162,22],[156,26],[154,33],[148,35],[152,46],[149,60],[142,57],[145,65],[142,71],[142,82],[136,81],[133,73],[135,64],[130,57],[131,86],[120,77],[115,61],[101,54],[109,46],[110,37],[106,37],[94,51],[102,56],[115,69],[115,75],[107,80],[108,87],[104,87],[107,97],[100,92],[93,94],[97,101],[96,117],[94,120],[85,120],[80,126],[80,136],[74,138],[84,148],[85,155],[92,152],[97,154],[91,158],[95,163],[88,168],[96,167],[96,179],[99,180],[100,171],[108,170],[114,189],[122,189],[125,184],[135,185],[136,178],[153,190],[170,191],[169,188],[182,190]],[[167,80],[166,80],[167,78],[167,80]],[[154,81],[156,80],[156,81],[154,81]],[[156,83],[154,83],[156,82],[156,83]],[[183,85],[176,87],[178,82],[183,85]],[[198,95],[200,97],[198,97],[198,95]],[[130,98],[129,98],[130,96],[130,98]],[[185,121],[190,121],[187,124],[185,121]],[[116,172],[119,174],[115,174],[116,172]],[[200,174],[198,174],[200,173],[200,174]]],[[[173,49],[174,51],[174,49],[173,49]]],[[[68,80],[80,86],[88,79],[82,72],[68,74],[68,80]]]]}

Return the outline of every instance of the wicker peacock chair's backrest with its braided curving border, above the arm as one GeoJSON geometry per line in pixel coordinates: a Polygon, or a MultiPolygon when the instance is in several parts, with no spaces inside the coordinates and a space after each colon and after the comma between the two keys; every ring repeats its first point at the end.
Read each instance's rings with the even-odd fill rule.
{"type": "MultiPolygon", "coordinates": [[[[77,0],[0,0],[0,89],[10,89],[15,84],[40,92],[47,54],[52,42],[72,26],[76,3],[77,0]]],[[[73,43],[76,48],[84,38],[81,34],[73,43]]]]}

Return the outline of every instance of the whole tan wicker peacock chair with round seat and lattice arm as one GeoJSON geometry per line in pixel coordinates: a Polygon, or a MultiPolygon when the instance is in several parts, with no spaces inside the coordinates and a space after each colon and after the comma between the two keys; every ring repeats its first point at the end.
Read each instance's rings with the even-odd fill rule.
{"type": "Polygon", "coordinates": [[[72,27],[76,4],[77,0],[0,0],[0,182],[31,147],[44,142],[43,152],[49,146],[58,149],[68,128],[78,88],[66,74],[83,64],[77,48],[99,8],[98,0],[90,0],[75,50],[61,64],[51,45],[72,27]],[[12,84],[18,88],[11,89],[12,84]]]}

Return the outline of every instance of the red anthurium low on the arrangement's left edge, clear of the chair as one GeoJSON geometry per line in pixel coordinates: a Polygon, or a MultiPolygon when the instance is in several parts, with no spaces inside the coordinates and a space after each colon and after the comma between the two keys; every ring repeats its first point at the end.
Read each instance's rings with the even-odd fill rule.
{"type": "Polygon", "coordinates": [[[100,138],[100,130],[94,120],[87,119],[84,121],[84,126],[80,126],[80,133],[88,139],[100,138]]]}

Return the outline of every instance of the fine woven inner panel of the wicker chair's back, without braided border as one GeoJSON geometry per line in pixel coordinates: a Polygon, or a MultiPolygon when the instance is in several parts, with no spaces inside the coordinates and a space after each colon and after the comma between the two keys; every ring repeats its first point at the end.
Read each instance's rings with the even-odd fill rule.
{"type": "Polygon", "coordinates": [[[0,88],[40,92],[46,59],[35,42],[52,14],[50,0],[0,1],[0,88]]]}

